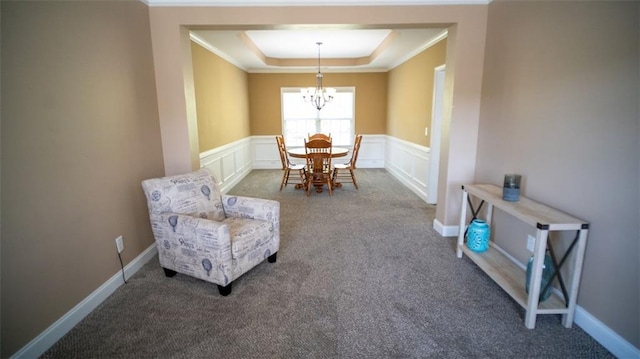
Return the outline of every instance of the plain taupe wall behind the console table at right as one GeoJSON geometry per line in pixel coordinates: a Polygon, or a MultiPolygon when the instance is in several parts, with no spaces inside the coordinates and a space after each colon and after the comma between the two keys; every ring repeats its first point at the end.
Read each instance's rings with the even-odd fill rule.
{"type": "MultiPolygon", "coordinates": [[[[491,3],[476,170],[477,182],[499,186],[520,173],[523,195],[591,222],[578,305],[636,348],[639,8],[491,3]]],[[[528,259],[526,228],[495,220],[496,242],[528,259]]]]}

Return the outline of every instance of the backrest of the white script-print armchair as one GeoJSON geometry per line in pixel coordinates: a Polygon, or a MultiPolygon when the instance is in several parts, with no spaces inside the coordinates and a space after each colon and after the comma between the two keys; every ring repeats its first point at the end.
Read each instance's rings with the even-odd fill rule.
{"type": "Polygon", "coordinates": [[[222,221],[225,218],[220,189],[206,168],[182,175],[142,182],[150,213],[179,213],[222,221]]]}

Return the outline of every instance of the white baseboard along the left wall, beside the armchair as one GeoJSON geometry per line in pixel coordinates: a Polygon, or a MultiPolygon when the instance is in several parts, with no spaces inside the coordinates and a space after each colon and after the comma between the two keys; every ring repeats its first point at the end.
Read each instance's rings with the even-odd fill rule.
{"type": "MultiPolygon", "coordinates": [[[[133,276],[143,265],[149,262],[157,252],[158,250],[154,243],[140,253],[124,267],[125,278],[133,276]]],[[[100,303],[113,294],[122,284],[124,284],[122,272],[118,271],[82,302],[78,303],[78,305],[73,307],[73,309],[68,311],[44,332],[40,333],[40,335],[12,355],[11,358],[37,358],[41,356],[47,349],[51,348],[53,344],[67,334],[67,332],[80,323],[84,317],[96,309],[100,303]]]]}

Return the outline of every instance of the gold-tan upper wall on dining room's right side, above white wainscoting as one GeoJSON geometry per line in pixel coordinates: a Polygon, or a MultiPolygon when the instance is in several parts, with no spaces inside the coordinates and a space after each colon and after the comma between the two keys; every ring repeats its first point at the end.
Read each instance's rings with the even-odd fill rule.
{"type": "Polygon", "coordinates": [[[429,147],[434,69],[445,64],[446,50],[442,40],[389,72],[388,135],[429,147]]]}

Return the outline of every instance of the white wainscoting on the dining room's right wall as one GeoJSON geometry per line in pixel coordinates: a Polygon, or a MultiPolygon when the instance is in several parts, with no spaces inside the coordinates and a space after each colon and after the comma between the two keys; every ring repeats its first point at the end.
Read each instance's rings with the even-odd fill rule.
{"type": "Polygon", "coordinates": [[[385,168],[423,200],[427,200],[428,147],[387,136],[385,168]]]}

